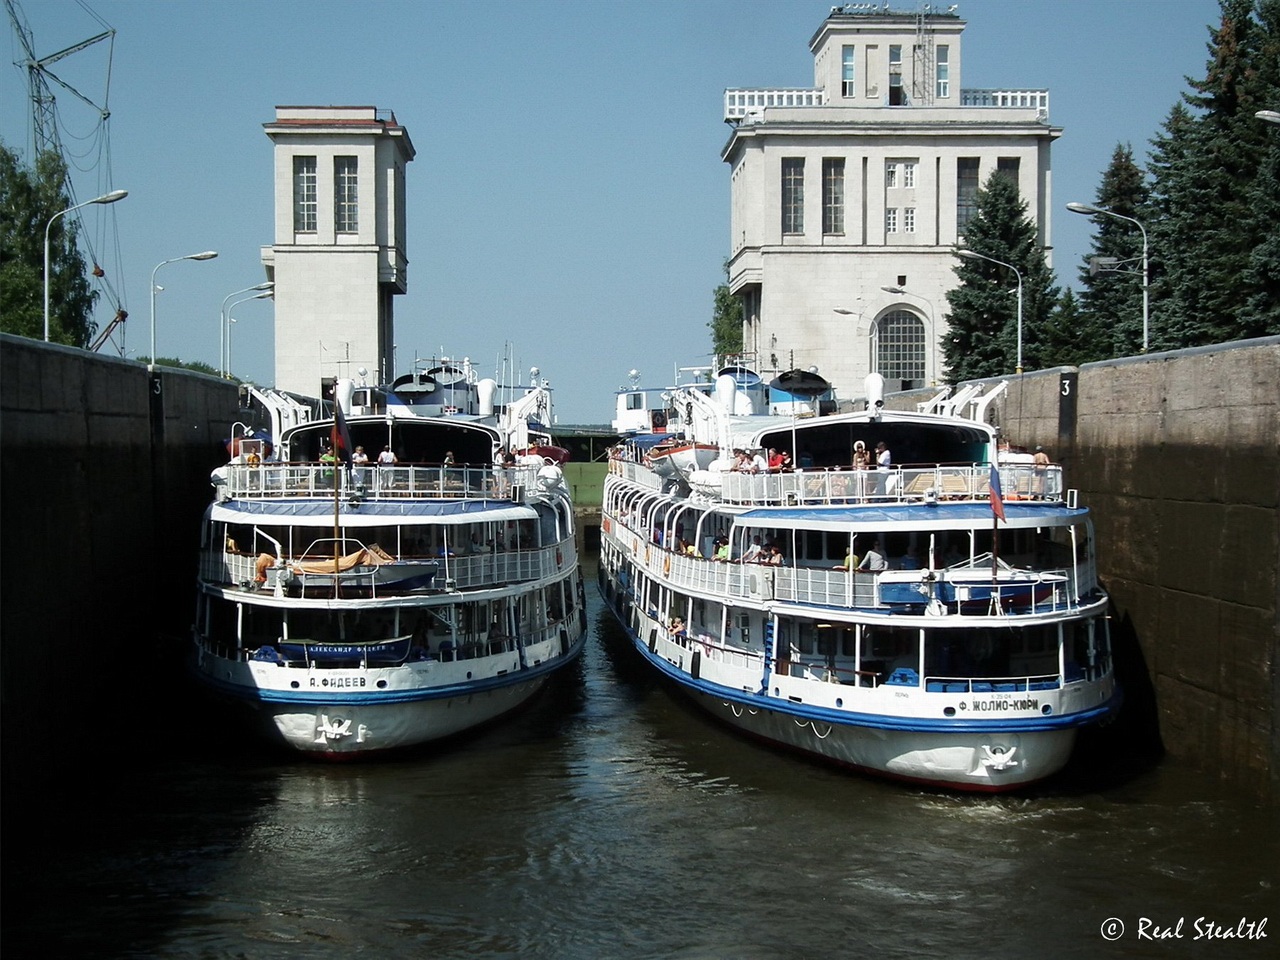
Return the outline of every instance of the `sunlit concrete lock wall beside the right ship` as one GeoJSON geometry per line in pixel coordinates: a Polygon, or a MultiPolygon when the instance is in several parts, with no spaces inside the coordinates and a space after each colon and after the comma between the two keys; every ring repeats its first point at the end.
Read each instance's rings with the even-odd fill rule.
{"type": "Polygon", "coordinates": [[[1280,338],[986,384],[1002,380],[988,420],[1015,447],[1043,445],[1093,511],[1126,722],[1199,769],[1274,792],[1280,338]]]}

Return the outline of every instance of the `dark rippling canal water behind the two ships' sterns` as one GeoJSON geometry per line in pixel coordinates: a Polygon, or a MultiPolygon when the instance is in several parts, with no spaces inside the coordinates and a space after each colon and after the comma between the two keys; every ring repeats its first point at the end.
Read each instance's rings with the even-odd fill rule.
{"type": "Polygon", "coordinates": [[[712,724],[589,598],[567,676],[412,759],[282,758],[198,710],[86,731],[4,785],[5,960],[1277,955],[1274,806],[1087,750],[1001,797],[815,765],[712,724]]]}

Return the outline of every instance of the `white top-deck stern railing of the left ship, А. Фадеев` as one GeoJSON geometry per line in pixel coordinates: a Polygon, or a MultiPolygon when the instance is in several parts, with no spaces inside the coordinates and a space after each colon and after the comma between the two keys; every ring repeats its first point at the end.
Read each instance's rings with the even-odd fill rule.
{"type": "Polygon", "coordinates": [[[515,499],[538,479],[539,466],[335,466],[333,463],[228,463],[225,494],[237,499],[358,495],[365,499],[515,499]]]}

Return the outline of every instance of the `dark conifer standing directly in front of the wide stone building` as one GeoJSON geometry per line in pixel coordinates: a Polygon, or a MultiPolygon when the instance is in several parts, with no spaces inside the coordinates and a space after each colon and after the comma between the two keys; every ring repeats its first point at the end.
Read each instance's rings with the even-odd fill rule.
{"type": "Polygon", "coordinates": [[[947,292],[951,308],[942,338],[947,379],[959,383],[998,376],[1012,372],[1018,364],[1018,276],[1001,264],[1012,265],[1023,278],[1023,367],[1034,370],[1059,288],[1011,177],[992,173],[978,191],[964,247],[991,260],[957,260],[960,284],[947,292]]]}

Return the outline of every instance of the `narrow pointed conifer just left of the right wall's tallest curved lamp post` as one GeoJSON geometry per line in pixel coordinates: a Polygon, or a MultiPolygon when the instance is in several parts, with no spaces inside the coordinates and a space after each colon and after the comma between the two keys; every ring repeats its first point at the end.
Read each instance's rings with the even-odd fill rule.
{"type": "MultiPolygon", "coordinates": [[[[1116,146],[1094,206],[1146,224],[1147,197],[1147,180],[1134,163],[1133,148],[1128,143],[1116,146]]],[[[1071,351],[1074,364],[1126,357],[1142,349],[1142,229],[1116,216],[1098,215],[1093,223],[1097,233],[1092,253],[1080,268],[1082,316],[1071,351]],[[1094,271],[1094,257],[1116,264],[1094,271]]]]}

